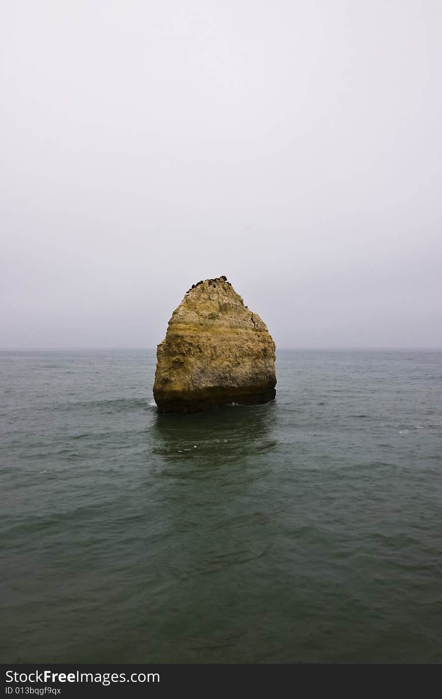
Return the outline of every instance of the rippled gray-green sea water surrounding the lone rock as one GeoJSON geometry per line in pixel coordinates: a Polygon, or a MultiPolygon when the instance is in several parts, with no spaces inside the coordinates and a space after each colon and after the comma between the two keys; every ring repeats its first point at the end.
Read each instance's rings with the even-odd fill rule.
{"type": "Polygon", "coordinates": [[[278,352],[158,415],[153,351],[3,352],[3,662],[441,662],[442,353],[278,352]]]}

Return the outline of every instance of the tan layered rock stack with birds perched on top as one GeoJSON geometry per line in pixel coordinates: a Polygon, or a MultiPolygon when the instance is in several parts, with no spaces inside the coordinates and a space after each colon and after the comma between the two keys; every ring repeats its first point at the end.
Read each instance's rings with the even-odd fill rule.
{"type": "Polygon", "coordinates": [[[226,277],[193,284],[156,352],[159,412],[267,403],[276,391],[274,342],[226,277]]]}

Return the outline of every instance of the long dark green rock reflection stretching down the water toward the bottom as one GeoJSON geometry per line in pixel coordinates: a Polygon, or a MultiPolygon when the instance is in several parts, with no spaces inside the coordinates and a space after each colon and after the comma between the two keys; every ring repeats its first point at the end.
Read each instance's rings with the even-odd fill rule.
{"type": "MultiPolygon", "coordinates": [[[[146,548],[145,560],[149,566],[156,562],[165,593],[157,594],[147,577],[145,594],[153,590],[156,604],[168,610],[168,652],[180,661],[196,656],[234,661],[237,644],[251,642],[255,612],[242,605],[239,613],[236,607],[242,591],[262,589],[257,570],[268,565],[272,552],[279,511],[268,498],[276,408],[227,406],[196,415],[155,415],[152,422],[154,459],[147,460],[146,477],[155,482],[163,537],[154,549],[152,543],[146,548]]],[[[158,635],[163,633],[159,629],[158,635]]]]}

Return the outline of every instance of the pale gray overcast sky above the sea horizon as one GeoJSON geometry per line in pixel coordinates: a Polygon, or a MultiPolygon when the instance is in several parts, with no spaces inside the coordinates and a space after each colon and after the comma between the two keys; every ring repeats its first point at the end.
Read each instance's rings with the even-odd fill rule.
{"type": "Polygon", "coordinates": [[[3,0],[0,347],[442,347],[440,0],[3,0]]]}

